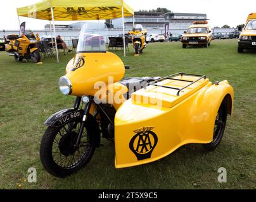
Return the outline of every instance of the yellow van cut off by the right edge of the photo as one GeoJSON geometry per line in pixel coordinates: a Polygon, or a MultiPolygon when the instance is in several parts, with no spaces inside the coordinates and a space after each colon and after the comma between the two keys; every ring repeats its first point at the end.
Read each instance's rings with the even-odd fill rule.
{"type": "Polygon", "coordinates": [[[251,13],[245,23],[245,27],[238,27],[242,31],[238,40],[238,52],[244,49],[256,49],[256,13],[251,13]]]}

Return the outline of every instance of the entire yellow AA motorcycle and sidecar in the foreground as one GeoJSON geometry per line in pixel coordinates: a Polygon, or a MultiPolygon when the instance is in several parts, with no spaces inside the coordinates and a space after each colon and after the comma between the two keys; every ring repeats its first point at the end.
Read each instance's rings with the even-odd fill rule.
{"type": "Polygon", "coordinates": [[[228,81],[187,73],[123,78],[121,59],[88,26],[59,80],[60,91],[76,97],[74,106],[44,122],[40,156],[50,174],[65,177],[81,169],[101,138],[114,142],[116,168],[153,162],[188,143],[207,150],[219,145],[233,109],[228,81]]]}

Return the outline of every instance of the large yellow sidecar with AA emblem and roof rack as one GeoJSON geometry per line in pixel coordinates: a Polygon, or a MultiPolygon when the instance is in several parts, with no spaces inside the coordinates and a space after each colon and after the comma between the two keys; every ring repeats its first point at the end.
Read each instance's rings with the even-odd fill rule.
{"type": "Polygon", "coordinates": [[[233,96],[228,81],[186,73],[132,93],[115,115],[115,167],[153,162],[188,143],[212,143],[215,130],[223,134],[226,125],[219,111],[232,114],[233,96]]]}

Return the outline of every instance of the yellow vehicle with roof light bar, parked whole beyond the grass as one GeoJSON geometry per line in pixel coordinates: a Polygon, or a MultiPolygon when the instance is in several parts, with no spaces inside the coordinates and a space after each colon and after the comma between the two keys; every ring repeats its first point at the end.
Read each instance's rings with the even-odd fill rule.
{"type": "Polygon", "coordinates": [[[189,26],[188,31],[184,32],[184,35],[181,37],[183,49],[188,45],[202,45],[208,47],[211,41],[212,31],[208,26],[208,21],[194,21],[193,25],[189,26]]]}

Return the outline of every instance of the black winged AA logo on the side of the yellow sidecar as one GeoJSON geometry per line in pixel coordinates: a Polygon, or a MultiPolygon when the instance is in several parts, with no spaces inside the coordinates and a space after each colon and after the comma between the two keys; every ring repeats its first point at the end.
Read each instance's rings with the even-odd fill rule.
{"type": "Polygon", "coordinates": [[[157,145],[157,134],[151,131],[153,128],[154,127],[143,127],[134,130],[136,134],[132,137],[129,147],[138,160],[150,158],[157,145]]]}

